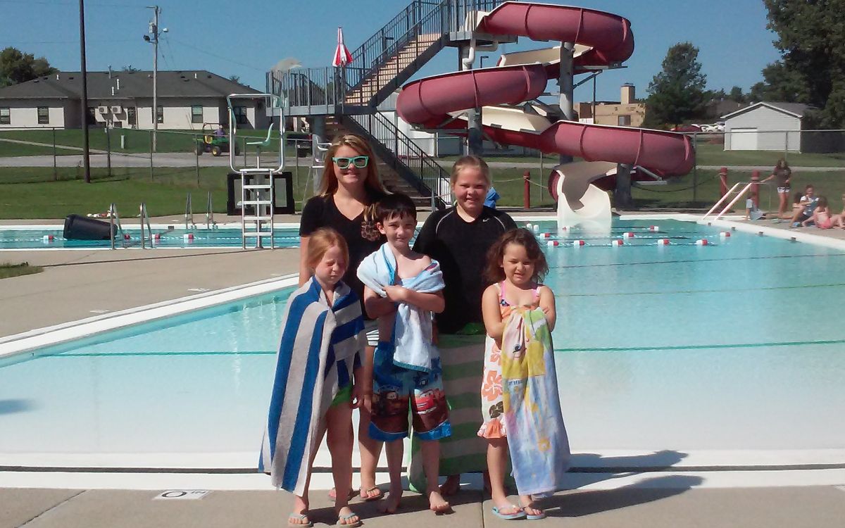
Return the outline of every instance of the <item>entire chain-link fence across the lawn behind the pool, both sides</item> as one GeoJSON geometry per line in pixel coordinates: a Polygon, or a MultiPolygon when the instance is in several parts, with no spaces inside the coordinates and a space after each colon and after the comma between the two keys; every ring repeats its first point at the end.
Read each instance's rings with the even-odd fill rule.
{"type": "MultiPolygon", "coordinates": [[[[213,130],[159,131],[154,152],[152,134],[150,130],[129,128],[90,129],[91,179],[97,185],[80,187],[85,178],[81,130],[0,130],[0,218],[38,217],[32,216],[36,211],[29,204],[50,197],[68,202],[71,212],[94,212],[90,209],[105,209],[112,201],[123,200],[124,207],[130,209],[146,201],[152,215],[181,214],[188,192],[194,193],[194,204],[204,204],[208,191],[212,193],[215,212],[225,212],[226,175],[231,171],[229,146],[221,145],[213,130]],[[90,199],[92,194],[95,199],[90,199]]],[[[793,193],[812,184],[816,194],[826,196],[831,204],[838,204],[845,193],[843,130],[733,129],[688,135],[696,152],[693,171],[666,180],[641,178],[631,191],[636,209],[708,210],[721,196],[720,168],[727,168],[730,188],[736,182],[750,181],[755,171],[764,180],[781,158],[792,168],[793,193]]],[[[278,133],[270,137],[277,139],[278,133]]],[[[264,146],[266,139],[267,132],[260,130],[239,136],[234,147],[238,165],[255,166],[258,161],[262,166],[277,164],[278,143],[271,152],[264,146]]],[[[445,135],[414,139],[427,140],[431,144],[422,147],[431,150],[444,170],[450,171],[462,151],[461,139],[445,135]]],[[[288,139],[285,151],[298,209],[313,194],[311,140],[304,134],[302,139],[288,139]]],[[[523,205],[527,171],[532,208],[555,206],[547,186],[553,167],[559,163],[558,155],[504,149],[490,143],[485,144],[484,157],[493,171],[493,185],[502,197],[499,205],[523,205]]],[[[759,202],[760,209],[777,211],[774,180],[760,186],[759,202]]]]}

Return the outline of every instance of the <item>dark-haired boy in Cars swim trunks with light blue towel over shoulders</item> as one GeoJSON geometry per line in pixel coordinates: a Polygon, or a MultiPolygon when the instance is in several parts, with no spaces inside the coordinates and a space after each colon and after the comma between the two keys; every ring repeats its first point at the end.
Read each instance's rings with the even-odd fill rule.
{"type": "MultiPolygon", "coordinates": [[[[394,313],[379,317],[379,346],[373,355],[370,438],[385,443],[390,493],[384,513],[399,509],[402,498],[404,438],[408,412],[420,440],[429,508],[450,509],[440,494],[440,438],[451,434],[443,391],[440,354],[433,344],[432,313],[443,311],[443,273],[437,261],[414,253],[409,244],[417,228],[417,209],[405,194],[385,196],[376,206],[376,226],[387,238],[358,266],[364,303],[379,297],[395,302],[394,313]]],[[[367,400],[365,400],[367,401],[367,400]]],[[[340,495],[338,495],[340,497],[340,495]]]]}

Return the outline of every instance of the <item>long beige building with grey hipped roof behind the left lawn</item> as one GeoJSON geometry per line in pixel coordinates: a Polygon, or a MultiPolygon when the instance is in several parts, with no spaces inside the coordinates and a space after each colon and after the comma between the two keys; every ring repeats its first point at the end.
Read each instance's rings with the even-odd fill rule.
{"type": "MultiPolygon", "coordinates": [[[[157,75],[158,126],[199,129],[204,122],[228,123],[226,95],[260,93],[204,70],[160,71],[157,75]]],[[[152,72],[89,72],[89,125],[153,127],[152,72]]],[[[0,129],[81,128],[79,72],[59,72],[0,89],[0,129]]],[[[239,127],[268,128],[264,101],[237,100],[239,127]]]]}

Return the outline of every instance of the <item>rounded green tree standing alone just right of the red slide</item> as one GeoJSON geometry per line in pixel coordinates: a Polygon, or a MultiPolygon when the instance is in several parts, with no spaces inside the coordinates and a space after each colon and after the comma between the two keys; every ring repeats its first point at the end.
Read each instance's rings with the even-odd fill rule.
{"type": "Polygon", "coordinates": [[[708,101],[707,78],[701,73],[698,48],[681,42],[669,48],[662,72],[648,84],[645,125],[679,125],[704,114],[708,101]]]}

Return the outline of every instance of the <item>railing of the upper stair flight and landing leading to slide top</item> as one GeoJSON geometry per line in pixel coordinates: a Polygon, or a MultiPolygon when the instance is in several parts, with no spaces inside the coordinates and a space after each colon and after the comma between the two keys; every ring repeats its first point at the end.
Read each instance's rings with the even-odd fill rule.
{"type": "MultiPolygon", "coordinates": [[[[502,0],[440,0],[431,2],[414,0],[397,14],[387,24],[376,31],[355,52],[352,52],[352,62],[344,68],[296,68],[286,73],[267,73],[267,91],[281,95],[288,106],[304,106],[310,111],[332,111],[331,106],[375,106],[381,101],[363,101],[355,98],[346,101],[346,95],[364,84],[373,74],[379,72],[385,64],[399,53],[419,35],[442,35],[441,47],[446,35],[455,31],[466,30],[466,16],[475,11],[491,11],[502,3],[502,0]],[[320,109],[319,106],[324,108],[320,109]],[[315,108],[318,107],[318,108],[315,108]]],[[[420,57],[432,44],[415,42],[415,55],[420,57]]],[[[424,60],[415,60],[411,64],[401,66],[397,60],[395,64],[394,81],[406,69],[410,69],[406,77],[423,66],[424,60]],[[414,63],[417,64],[414,64],[414,63]]],[[[406,79],[395,81],[399,83],[406,79]]],[[[381,94],[384,95],[384,92],[381,94]]]]}

